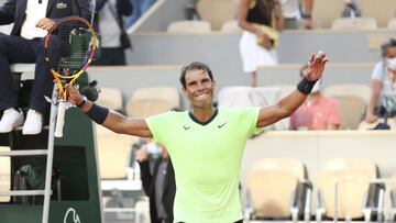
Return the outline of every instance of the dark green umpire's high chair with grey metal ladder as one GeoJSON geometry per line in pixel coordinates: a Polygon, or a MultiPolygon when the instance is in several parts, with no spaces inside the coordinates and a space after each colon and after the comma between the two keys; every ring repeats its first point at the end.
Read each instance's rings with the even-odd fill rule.
{"type": "MultiPolygon", "coordinates": [[[[14,64],[10,68],[13,74],[16,74],[16,78],[20,80],[21,74],[34,73],[35,65],[14,64]]],[[[56,92],[53,92],[52,99],[54,100],[56,97],[56,92]]],[[[41,160],[45,164],[45,182],[44,190],[0,191],[0,197],[11,197],[14,199],[16,197],[41,196],[44,197],[44,199],[38,205],[36,203],[28,205],[19,204],[12,201],[8,203],[0,202],[0,215],[2,215],[1,212],[8,213],[4,215],[6,218],[1,220],[2,223],[21,221],[31,223],[58,223],[69,222],[70,220],[73,221],[73,219],[76,220],[76,218],[81,222],[102,222],[95,131],[89,119],[76,111],[77,109],[70,110],[70,112],[66,112],[70,113],[69,118],[72,118],[67,125],[74,125],[74,129],[76,129],[75,126],[78,124],[78,130],[72,134],[65,134],[63,138],[55,140],[54,137],[57,114],[57,105],[54,103],[51,104],[50,125],[44,125],[41,134],[22,135],[22,127],[16,127],[9,133],[8,144],[10,150],[0,152],[0,157],[11,157],[11,181],[13,180],[15,170],[18,170],[15,166],[20,165],[20,163],[29,161],[29,157],[32,157],[32,160],[41,160]],[[81,137],[82,134],[84,137],[81,137]],[[55,156],[55,160],[54,153],[58,154],[55,156]],[[45,161],[38,158],[45,158],[45,161]],[[52,201],[51,198],[54,193],[52,190],[54,163],[61,166],[63,171],[62,180],[66,187],[62,188],[62,200],[58,196],[59,200],[52,201]],[[52,207],[51,214],[50,204],[52,207]],[[20,212],[24,214],[20,214],[20,212]]],[[[69,126],[65,126],[65,132],[70,133],[70,131],[66,129],[69,129],[69,126]]],[[[4,142],[2,142],[4,140],[7,142],[4,135],[6,134],[2,134],[2,136],[0,136],[0,144],[4,144],[4,142]]],[[[56,191],[56,193],[59,194],[61,191],[56,191]]]]}

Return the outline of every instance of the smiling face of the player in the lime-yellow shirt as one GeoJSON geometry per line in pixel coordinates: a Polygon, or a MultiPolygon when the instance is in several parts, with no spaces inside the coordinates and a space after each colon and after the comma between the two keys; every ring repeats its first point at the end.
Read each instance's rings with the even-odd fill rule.
{"type": "Polygon", "coordinates": [[[212,108],[216,82],[210,79],[207,71],[189,70],[186,73],[185,82],[183,91],[194,108],[212,108]]]}

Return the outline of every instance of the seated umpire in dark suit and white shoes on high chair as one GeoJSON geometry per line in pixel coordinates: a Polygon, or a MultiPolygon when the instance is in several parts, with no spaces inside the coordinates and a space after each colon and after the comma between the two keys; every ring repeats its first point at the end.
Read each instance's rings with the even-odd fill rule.
{"type": "Polygon", "coordinates": [[[53,77],[44,62],[44,37],[55,24],[56,19],[80,15],[90,20],[90,1],[67,1],[69,3],[50,3],[51,1],[8,0],[0,8],[0,25],[14,23],[11,35],[0,35],[0,133],[11,132],[23,122],[22,134],[38,134],[42,131],[43,115],[50,103],[54,86],[53,77]],[[47,5],[48,4],[48,5],[47,5]],[[36,63],[34,85],[32,87],[29,111],[24,121],[18,97],[13,89],[10,64],[36,63]]]}

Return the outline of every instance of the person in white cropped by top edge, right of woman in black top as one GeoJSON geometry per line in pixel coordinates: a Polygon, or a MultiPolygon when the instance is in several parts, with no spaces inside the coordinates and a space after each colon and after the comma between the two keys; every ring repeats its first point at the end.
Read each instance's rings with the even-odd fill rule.
{"type": "Polygon", "coordinates": [[[282,14],[285,20],[286,30],[299,29],[301,18],[304,19],[304,29],[312,29],[312,9],[314,0],[305,0],[305,11],[301,14],[299,0],[282,0],[282,14]]]}

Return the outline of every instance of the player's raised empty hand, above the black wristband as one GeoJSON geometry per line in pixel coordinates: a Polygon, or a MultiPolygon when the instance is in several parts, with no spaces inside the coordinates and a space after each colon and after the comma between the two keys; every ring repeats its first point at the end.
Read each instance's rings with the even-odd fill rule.
{"type": "Polygon", "coordinates": [[[311,54],[309,57],[308,68],[305,70],[305,77],[310,80],[315,81],[318,80],[324,70],[324,65],[329,59],[326,57],[326,54],[321,51],[315,55],[311,54]]]}

